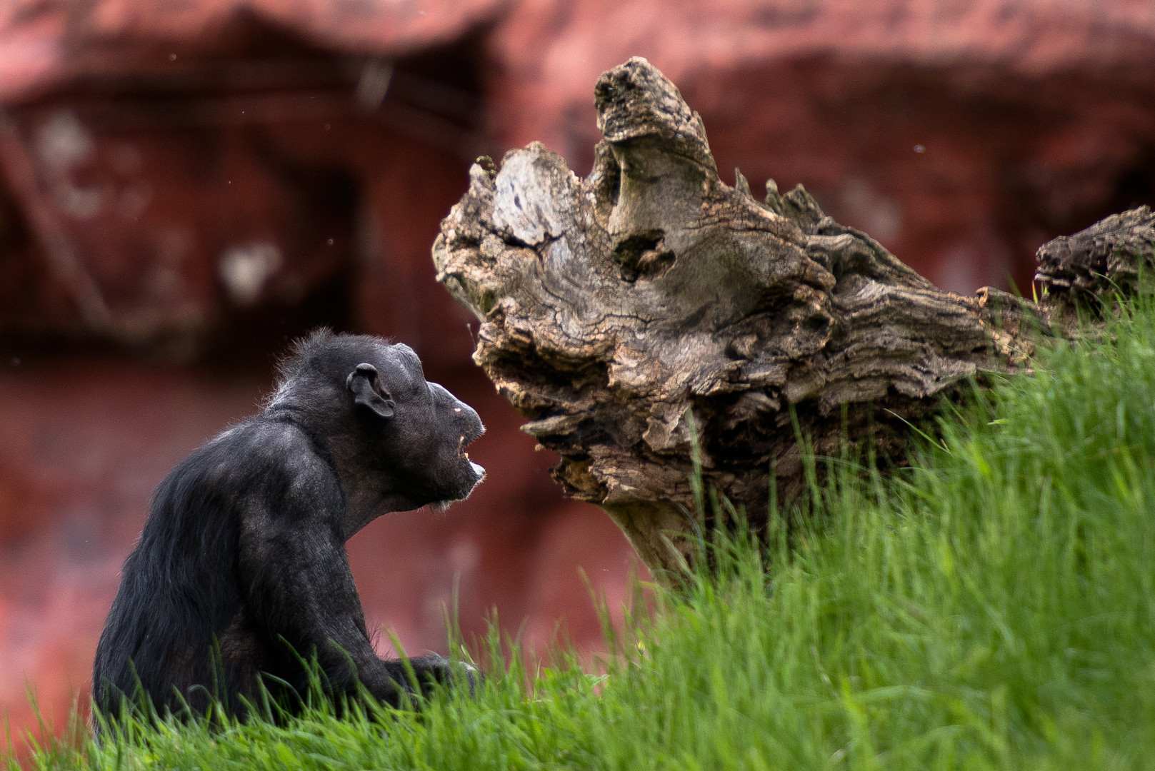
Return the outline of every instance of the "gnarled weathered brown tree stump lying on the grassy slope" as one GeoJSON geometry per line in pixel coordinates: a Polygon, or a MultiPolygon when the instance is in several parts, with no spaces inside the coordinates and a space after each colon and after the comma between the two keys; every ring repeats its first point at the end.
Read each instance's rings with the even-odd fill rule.
{"type": "Polygon", "coordinates": [[[474,360],[559,454],[553,478],[656,576],[695,551],[691,414],[706,482],[757,525],[772,467],[782,499],[805,488],[799,436],[901,458],[909,422],[1024,366],[1056,308],[1066,329],[1079,295],[1152,262],[1145,208],[1044,246],[1042,306],[945,292],[802,186],[759,201],[737,171],[723,184],[701,118],[644,59],[603,74],[595,104],[587,179],[538,143],[475,165],[433,260],[483,322],[474,360]]]}

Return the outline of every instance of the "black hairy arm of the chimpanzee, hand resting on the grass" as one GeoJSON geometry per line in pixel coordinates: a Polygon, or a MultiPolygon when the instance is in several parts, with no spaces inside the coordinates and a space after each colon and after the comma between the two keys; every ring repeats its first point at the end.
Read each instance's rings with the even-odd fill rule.
{"type": "MultiPolygon", "coordinates": [[[[397,704],[409,678],[401,661],[378,658],[366,634],[343,545],[337,481],[312,463],[300,467],[300,461],[288,462],[297,467],[280,500],[261,491],[248,496],[238,564],[245,615],[273,645],[283,645],[283,637],[306,659],[315,651],[334,690],[353,690],[351,659],[370,693],[397,704]]],[[[410,663],[419,679],[444,681],[448,673],[441,657],[410,663]]]]}

